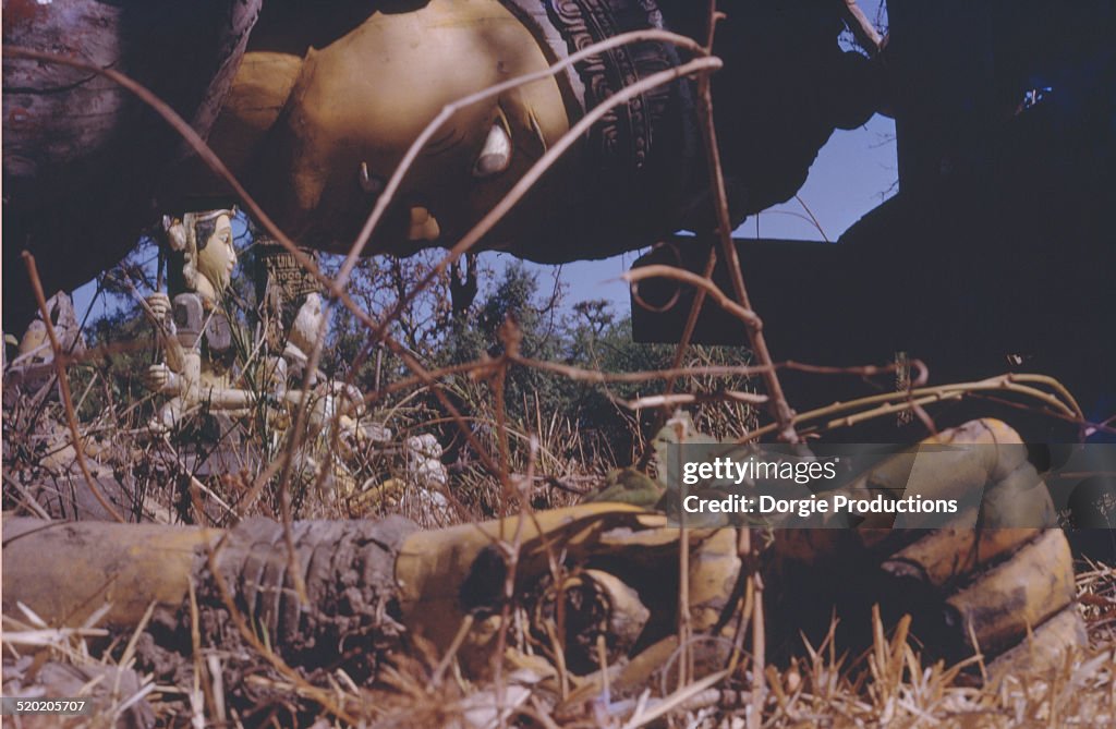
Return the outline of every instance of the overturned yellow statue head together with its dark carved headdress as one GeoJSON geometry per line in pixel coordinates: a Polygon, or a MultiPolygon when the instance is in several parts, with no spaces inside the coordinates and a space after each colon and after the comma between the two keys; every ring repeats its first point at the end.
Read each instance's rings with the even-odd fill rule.
{"type": "MultiPolygon", "coordinates": [[[[307,3],[270,4],[209,142],[299,243],[346,251],[411,144],[448,104],[542,71],[607,35],[662,27],[654,3],[548,8],[427,0],[340,17],[307,3]]],[[[665,44],[635,44],[462,106],[419,153],[366,250],[453,244],[573,121],[679,63],[665,44]]],[[[481,247],[536,260],[602,257],[604,244],[627,247],[646,221],[668,218],[664,201],[686,184],[698,146],[684,121],[687,88],[671,84],[606,116],[481,247]]],[[[182,179],[198,181],[187,198],[222,192],[205,175],[182,179]]]]}

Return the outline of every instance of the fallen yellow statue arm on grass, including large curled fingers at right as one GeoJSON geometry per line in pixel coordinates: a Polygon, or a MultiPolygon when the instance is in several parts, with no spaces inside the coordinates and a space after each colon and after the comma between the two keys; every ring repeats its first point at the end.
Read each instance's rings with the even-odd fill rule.
{"type": "MultiPolygon", "coordinates": [[[[769,634],[798,640],[810,620],[834,611],[870,631],[870,607],[879,604],[885,618],[914,616],[912,633],[927,654],[979,652],[993,679],[1057,661],[1084,640],[1065,536],[995,520],[1007,510],[1052,514],[1018,438],[994,422],[942,438],[1003,448],[960,457],[944,473],[912,470],[896,455],[846,490],[897,497],[901,474],[908,491],[983,488],[983,526],[776,530],[762,566],[769,634]]],[[[661,651],[675,632],[683,534],[692,629],[734,624],[729,612],[741,594],[735,528],[682,531],[663,514],[618,503],[433,531],[401,518],[296,522],[294,559],[282,525],[266,519],[231,530],[23,518],[3,527],[6,615],[19,615],[22,604],[48,624],[75,625],[107,603],[104,622],[128,631],[154,603],[147,646],[156,658],[189,655],[193,630],[203,646],[244,654],[248,626],[288,664],[309,674],[343,666],[357,681],[373,680],[385,655],[420,635],[439,654],[455,646],[472,675],[491,666],[498,645],[583,675],[602,658],[658,669],[661,661],[641,654],[661,651]],[[506,606],[526,620],[502,643],[506,606]]]]}

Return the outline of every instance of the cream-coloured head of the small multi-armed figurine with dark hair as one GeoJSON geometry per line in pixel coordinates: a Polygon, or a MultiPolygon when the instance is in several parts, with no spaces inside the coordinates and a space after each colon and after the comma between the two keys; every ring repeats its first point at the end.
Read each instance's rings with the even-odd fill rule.
{"type": "Polygon", "coordinates": [[[237,266],[232,242],[235,214],[234,210],[210,210],[163,222],[172,251],[182,253],[182,284],[211,304],[229,287],[237,266]]]}

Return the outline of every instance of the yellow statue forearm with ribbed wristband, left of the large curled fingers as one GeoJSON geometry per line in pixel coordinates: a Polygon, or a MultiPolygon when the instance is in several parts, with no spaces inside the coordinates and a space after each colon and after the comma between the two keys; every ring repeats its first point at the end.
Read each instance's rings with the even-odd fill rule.
{"type": "MultiPolygon", "coordinates": [[[[285,660],[312,669],[337,661],[337,646],[364,641],[367,650],[346,662],[359,678],[373,674],[376,649],[396,645],[405,632],[445,650],[472,616],[462,658],[483,670],[496,645],[487,623],[507,602],[518,534],[512,597],[528,599],[551,574],[551,558],[559,559],[603,597],[585,604],[585,630],[599,634],[599,621],[623,627],[623,645],[614,641],[610,649],[618,658],[644,637],[652,612],[655,630],[674,625],[677,583],[661,573],[677,562],[680,533],[665,525],[662,515],[607,503],[437,531],[419,531],[401,518],[305,521],[290,527],[291,559],[282,526],[266,519],[225,531],[8,518],[4,612],[17,614],[23,604],[49,624],[79,625],[106,610],[105,624],[127,631],[154,603],[161,648],[186,653],[193,585],[206,644],[243,645],[240,625],[251,625],[285,660]]],[[[731,592],[740,565],[734,536],[731,529],[691,534],[699,630],[711,625],[731,592]]],[[[589,645],[596,648],[595,637],[589,645]]]]}

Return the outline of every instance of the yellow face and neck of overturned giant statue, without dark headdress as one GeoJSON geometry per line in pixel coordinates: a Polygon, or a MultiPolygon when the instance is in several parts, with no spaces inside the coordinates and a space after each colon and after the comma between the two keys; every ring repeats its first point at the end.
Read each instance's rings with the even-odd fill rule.
{"type": "MultiPolygon", "coordinates": [[[[264,15],[210,142],[287,232],[345,250],[443,106],[550,61],[496,0],[377,11],[325,40],[329,22],[264,15]]],[[[462,108],[420,153],[373,248],[452,242],[568,127],[554,78],[462,108]]]]}

